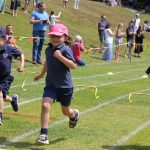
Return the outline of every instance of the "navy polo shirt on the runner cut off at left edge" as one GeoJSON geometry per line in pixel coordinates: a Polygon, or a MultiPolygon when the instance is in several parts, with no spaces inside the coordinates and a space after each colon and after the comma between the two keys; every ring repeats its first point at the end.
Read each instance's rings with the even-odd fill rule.
{"type": "Polygon", "coordinates": [[[21,52],[16,48],[4,44],[0,49],[0,79],[10,75],[11,73],[11,63],[13,57],[20,57],[21,52]]]}

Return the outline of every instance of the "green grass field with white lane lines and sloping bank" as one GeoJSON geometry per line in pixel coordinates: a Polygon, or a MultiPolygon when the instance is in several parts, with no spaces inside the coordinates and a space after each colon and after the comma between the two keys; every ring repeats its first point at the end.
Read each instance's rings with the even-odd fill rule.
{"type": "MultiPolygon", "coordinates": [[[[97,22],[100,15],[105,14],[113,28],[119,23],[127,27],[128,21],[135,13],[122,7],[106,7],[100,2],[81,0],[79,11],[73,10],[73,2],[69,8],[61,6],[61,0],[45,0],[47,10],[62,11],[61,22],[69,28],[71,36],[83,36],[86,48],[98,46],[97,22]]],[[[7,1],[6,11],[9,11],[7,1]]],[[[29,14],[20,10],[18,17],[9,13],[0,14],[1,26],[12,24],[16,36],[32,36],[32,25],[29,24],[29,14]]],[[[141,14],[141,20],[150,15],[141,14]]],[[[150,44],[150,34],[145,34],[145,44],[150,44]]],[[[48,39],[45,42],[48,42],[48,39]]],[[[124,41],[126,42],[126,41],[124,41]]],[[[55,103],[50,110],[49,140],[50,145],[36,145],[35,139],[40,130],[41,97],[44,78],[34,83],[34,74],[27,71],[39,72],[40,65],[31,64],[32,43],[26,40],[18,41],[26,56],[25,72],[18,73],[15,68],[19,61],[14,60],[12,74],[15,81],[10,89],[10,95],[19,95],[20,110],[12,111],[9,103],[5,103],[3,125],[0,126],[0,149],[29,149],[29,150],[150,150],[150,98],[149,96],[132,95],[132,103],[128,101],[131,92],[150,93],[150,80],[142,78],[149,66],[150,46],[144,47],[141,58],[133,58],[132,63],[123,57],[121,62],[106,63],[101,55],[83,53],[85,67],[77,67],[72,71],[75,86],[72,107],[80,110],[80,120],[74,129],[68,128],[68,119],[62,115],[60,105],[55,103]],[[113,75],[108,73],[112,72],[113,75]],[[21,90],[24,76],[27,76],[25,87],[21,90]],[[96,86],[98,99],[95,99],[96,86]]],[[[44,50],[43,50],[44,59],[44,50]]]]}

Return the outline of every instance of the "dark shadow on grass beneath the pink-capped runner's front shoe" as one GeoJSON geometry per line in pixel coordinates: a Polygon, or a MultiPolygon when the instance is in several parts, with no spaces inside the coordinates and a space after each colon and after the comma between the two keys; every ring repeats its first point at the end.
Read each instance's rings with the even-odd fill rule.
{"type": "MultiPolygon", "coordinates": [[[[64,141],[65,138],[58,138],[53,141],[49,141],[49,145],[56,144],[58,142],[64,141]]],[[[0,137],[0,141],[3,141],[4,143],[9,143],[8,139],[6,137],[0,137]]],[[[33,142],[33,141],[32,141],[33,142]]],[[[36,143],[30,143],[30,142],[16,142],[16,143],[10,143],[6,148],[9,149],[9,147],[13,147],[15,149],[28,149],[28,150],[44,150],[43,144],[36,144],[36,143]]],[[[46,145],[48,147],[48,145],[46,145]]]]}

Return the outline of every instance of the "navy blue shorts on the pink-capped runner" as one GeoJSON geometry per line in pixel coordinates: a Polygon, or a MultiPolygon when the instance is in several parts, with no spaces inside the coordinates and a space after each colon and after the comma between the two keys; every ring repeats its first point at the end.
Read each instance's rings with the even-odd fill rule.
{"type": "Polygon", "coordinates": [[[44,97],[50,97],[54,101],[58,101],[63,106],[69,106],[71,104],[73,95],[73,88],[54,88],[50,86],[46,86],[44,88],[44,97]]]}

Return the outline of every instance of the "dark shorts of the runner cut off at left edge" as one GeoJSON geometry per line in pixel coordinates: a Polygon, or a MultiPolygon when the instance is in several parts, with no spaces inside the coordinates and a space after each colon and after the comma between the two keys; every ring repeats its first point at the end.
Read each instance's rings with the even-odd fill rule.
{"type": "Polygon", "coordinates": [[[14,80],[14,77],[11,75],[0,79],[0,91],[2,91],[3,93],[3,98],[6,98],[7,94],[9,93],[9,88],[13,80],[14,80]]]}

